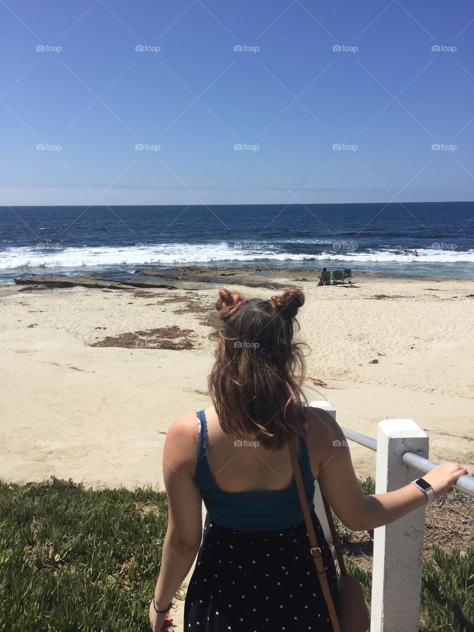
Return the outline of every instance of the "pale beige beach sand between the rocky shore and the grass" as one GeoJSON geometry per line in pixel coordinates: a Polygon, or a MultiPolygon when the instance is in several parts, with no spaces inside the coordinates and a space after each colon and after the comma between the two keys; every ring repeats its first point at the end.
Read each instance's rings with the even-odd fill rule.
{"type": "MultiPolygon", "coordinates": [[[[431,459],[472,471],[474,281],[361,275],[352,288],[317,287],[279,274],[307,296],[299,334],[311,348],[307,375],[327,385],[307,380],[308,399],[329,400],[341,425],[372,437],[380,420],[411,418],[430,436],[431,459]]],[[[163,489],[167,428],[209,406],[216,296],[209,284],[1,288],[0,479],[163,489]],[[124,346],[108,346],[117,337],[124,346]]],[[[349,445],[358,476],[374,475],[375,453],[349,445]]]]}

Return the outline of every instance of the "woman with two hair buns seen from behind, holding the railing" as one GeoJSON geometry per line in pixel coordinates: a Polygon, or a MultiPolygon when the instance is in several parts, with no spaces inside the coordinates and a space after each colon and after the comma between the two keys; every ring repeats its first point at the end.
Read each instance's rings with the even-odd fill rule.
{"type": "MultiPolygon", "coordinates": [[[[309,554],[290,437],[299,437],[308,503],[312,506],[317,478],[349,529],[386,525],[427,502],[415,485],[365,496],[341,428],[329,413],[303,408],[303,355],[293,342],[303,303],[298,289],[270,300],[219,291],[216,307],[223,323],[209,377],[214,405],[176,420],[164,448],[169,524],[150,603],[153,632],[169,624],[171,600],[197,554],[185,630],[332,630],[309,554]]],[[[465,472],[457,463],[446,463],[424,479],[439,495],[465,472]]],[[[312,520],[325,543],[314,513],[312,520]]],[[[327,544],[322,556],[336,600],[336,570],[327,544]]]]}

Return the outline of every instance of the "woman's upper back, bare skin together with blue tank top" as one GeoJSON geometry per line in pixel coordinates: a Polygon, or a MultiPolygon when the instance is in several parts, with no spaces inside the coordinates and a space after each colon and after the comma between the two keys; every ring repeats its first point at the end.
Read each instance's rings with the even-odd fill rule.
{"type": "MultiPolygon", "coordinates": [[[[194,480],[212,521],[229,529],[257,531],[301,523],[298,491],[288,446],[271,451],[252,439],[223,432],[214,409],[199,411],[194,480]]],[[[305,422],[301,420],[303,426],[305,422]]],[[[308,505],[313,505],[314,475],[305,439],[300,469],[308,505]]]]}

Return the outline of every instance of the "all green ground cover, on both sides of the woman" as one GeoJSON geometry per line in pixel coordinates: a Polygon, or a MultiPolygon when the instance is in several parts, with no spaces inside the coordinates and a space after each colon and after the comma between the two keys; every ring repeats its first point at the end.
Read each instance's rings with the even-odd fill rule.
{"type": "MultiPolygon", "coordinates": [[[[361,484],[374,492],[372,479],[361,484]]],[[[445,514],[450,502],[458,520],[469,519],[471,499],[456,495],[445,514]]],[[[151,488],[0,483],[0,630],[149,631],[166,526],[166,494],[151,488]]],[[[372,538],[337,526],[370,602],[372,538]]],[[[474,631],[474,546],[466,542],[425,550],[420,632],[474,631]]]]}

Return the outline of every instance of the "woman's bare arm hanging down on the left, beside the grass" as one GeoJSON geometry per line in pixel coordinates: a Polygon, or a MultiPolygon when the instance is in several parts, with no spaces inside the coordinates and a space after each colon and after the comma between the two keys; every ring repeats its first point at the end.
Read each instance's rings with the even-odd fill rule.
{"type": "MultiPolygon", "coordinates": [[[[161,568],[155,586],[157,610],[164,610],[185,580],[202,540],[202,497],[193,480],[196,446],[194,413],[183,415],[169,428],[163,451],[163,475],[168,495],[168,528],[163,544],[161,568]]],[[[150,623],[158,632],[166,618],[150,604],[150,623]]]]}

